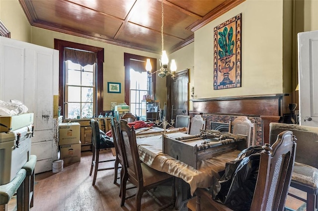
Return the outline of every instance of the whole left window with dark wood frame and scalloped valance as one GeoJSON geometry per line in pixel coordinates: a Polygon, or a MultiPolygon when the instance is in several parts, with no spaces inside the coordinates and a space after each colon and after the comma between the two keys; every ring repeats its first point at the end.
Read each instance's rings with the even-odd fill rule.
{"type": "Polygon", "coordinates": [[[104,49],[58,39],[54,39],[54,49],[59,50],[60,58],[61,115],[64,118],[90,118],[103,112],[104,49]],[[90,53],[92,58],[80,59],[79,54],[83,52],[90,53]]]}

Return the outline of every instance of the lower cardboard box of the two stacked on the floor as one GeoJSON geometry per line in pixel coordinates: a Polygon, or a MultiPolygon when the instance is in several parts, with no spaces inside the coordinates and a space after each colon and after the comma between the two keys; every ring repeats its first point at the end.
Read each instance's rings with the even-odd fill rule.
{"type": "Polygon", "coordinates": [[[60,156],[64,163],[72,163],[80,161],[80,141],[77,144],[67,144],[60,146],[60,156]]]}

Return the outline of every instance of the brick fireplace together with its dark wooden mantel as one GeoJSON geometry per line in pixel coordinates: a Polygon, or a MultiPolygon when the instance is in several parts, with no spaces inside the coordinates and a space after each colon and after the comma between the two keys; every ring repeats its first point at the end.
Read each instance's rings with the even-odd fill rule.
{"type": "MultiPolygon", "coordinates": [[[[251,122],[256,121],[256,145],[269,140],[269,123],[282,122],[288,114],[289,94],[239,96],[223,98],[192,99],[194,114],[206,118],[207,129],[210,122],[229,123],[239,115],[245,115],[251,122]]],[[[225,128],[222,126],[223,129],[225,128]]],[[[212,128],[213,129],[213,128],[212,128]]]]}

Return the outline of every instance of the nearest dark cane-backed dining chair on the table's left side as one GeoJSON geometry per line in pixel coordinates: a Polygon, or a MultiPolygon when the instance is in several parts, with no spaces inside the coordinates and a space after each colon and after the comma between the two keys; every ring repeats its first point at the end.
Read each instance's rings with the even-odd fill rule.
{"type": "MultiPolygon", "coordinates": [[[[138,154],[136,134],[134,127],[130,128],[127,121],[120,120],[119,125],[119,145],[123,154],[124,173],[121,178],[121,206],[124,206],[126,200],[127,180],[137,187],[136,210],[141,209],[141,198],[145,191],[153,189],[160,184],[172,182],[172,204],[175,201],[175,188],[173,177],[167,173],[160,172],[151,168],[146,163],[141,162],[138,154]]],[[[162,209],[171,206],[167,204],[162,209]]]]}

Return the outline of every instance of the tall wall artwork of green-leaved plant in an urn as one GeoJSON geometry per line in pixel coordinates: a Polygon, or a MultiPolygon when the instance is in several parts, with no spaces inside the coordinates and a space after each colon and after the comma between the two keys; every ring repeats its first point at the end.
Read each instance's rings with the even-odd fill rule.
{"type": "Polygon", "coordinates": [[[241,87],[242,13],[214,28],[214,89],[241,87]]]}

